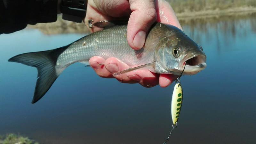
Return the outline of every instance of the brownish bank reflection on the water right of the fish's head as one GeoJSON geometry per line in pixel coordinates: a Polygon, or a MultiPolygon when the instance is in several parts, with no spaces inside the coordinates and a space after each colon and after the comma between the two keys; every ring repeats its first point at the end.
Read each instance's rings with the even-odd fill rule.
{"type": "Polygon", "coordinates": [[[217,16],[212,18],[197,18],[180,20],[185,33],[193,37],[198,43],[202,41],[201,35],[206,36],[206,40],[213,37],[224,35],[224,40],[228,40],[230,36],[233,40],[237,37],[245,37],[248,32],[256,33],[256,13],[248,13],[246,15],[228,15],[217,16]]]}

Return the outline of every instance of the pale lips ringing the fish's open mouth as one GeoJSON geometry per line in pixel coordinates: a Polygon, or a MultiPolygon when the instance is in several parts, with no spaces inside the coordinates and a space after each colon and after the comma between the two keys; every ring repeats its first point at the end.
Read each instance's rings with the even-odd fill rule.
{"type": "Polygon", "coordinates": [[[183,70],[184,67],[185,67],[185,62],[187,60],[192,59],[192,58],[197,57],[197,56],[200,56],[202,58],[202,62],[197,64],[197,65],[193,65],[193,66],[186,65],[186,68],[185,68],[184,72],[186,72],[186,70],[191,69],[191,68],[198,68],[198,69],[203,70],[206,67],[206,63],[205,63],[206,62],[206,56],[205,56],[204,52],[193,52],[190,55],[185,56],[185,58],[180,63],[180,68],[182,68],[182,70],[183,70]],[[190,68],[188,68],[188,67],[190,67],[190,68]]]}

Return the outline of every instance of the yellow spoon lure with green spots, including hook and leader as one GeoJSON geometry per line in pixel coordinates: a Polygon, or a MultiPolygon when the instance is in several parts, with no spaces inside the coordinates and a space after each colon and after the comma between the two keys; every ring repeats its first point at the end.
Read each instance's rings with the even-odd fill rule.
{"type": "MultiPolygon", "coordinates": [[[[186,67],[186,63],[184,66],[184,69],[186,67]]],[[[184,71],[183,69],[183,71],[184,71]]],[[[170,136],[172,135],[172,131],[174,128],[177,127],[177,122],[180,116],[180,110],[182,105],[182,98],[183,98],[183,91],[180,84],[180,77],[183,73],[181,72],[180,76],[176,80],[176,84],[174,86],[173,92],[172,92],[172,103],[171,103],[171,115],[172,115],[172,130],[169,132],[168,137],[165,139],[164,144],[166,144],[169,141],[170,136]]]]}

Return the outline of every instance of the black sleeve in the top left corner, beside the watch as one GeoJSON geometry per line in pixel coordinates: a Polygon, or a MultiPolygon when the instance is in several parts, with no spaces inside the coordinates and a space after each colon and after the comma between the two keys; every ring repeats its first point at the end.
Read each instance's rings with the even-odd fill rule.
{"type": "Polygon", "coordinates": [[[57,20],[58,0],[0,0],[0,34],[57,20]]]}

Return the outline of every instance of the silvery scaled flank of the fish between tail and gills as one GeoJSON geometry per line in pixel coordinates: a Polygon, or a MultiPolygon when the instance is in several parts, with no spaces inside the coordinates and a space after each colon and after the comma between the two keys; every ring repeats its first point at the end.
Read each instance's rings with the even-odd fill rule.
{"type": "MultiPolygon", "coordinates": [[[[82,61],[88,62],[93,56],[101,56],[104,59],[116,57],[129,66],[143,65],[154,61],[153,52],[159,37],[146,43],[144,50],[133,50],[126,40],[127,26],[117,26],[107,28],[99,32],[92,33],[71,44],[57,60],[60,67],[68,67],[70,64],[82,61]],[[154,41],[151,44],[151,41],[154,41]],[[83,46],[83,43],[86,43],[83,46]],[[137,55],[141,55],[138,58],[137,55]]],[[[154,31],[152,31],[154,34],[154,31]]]]}

